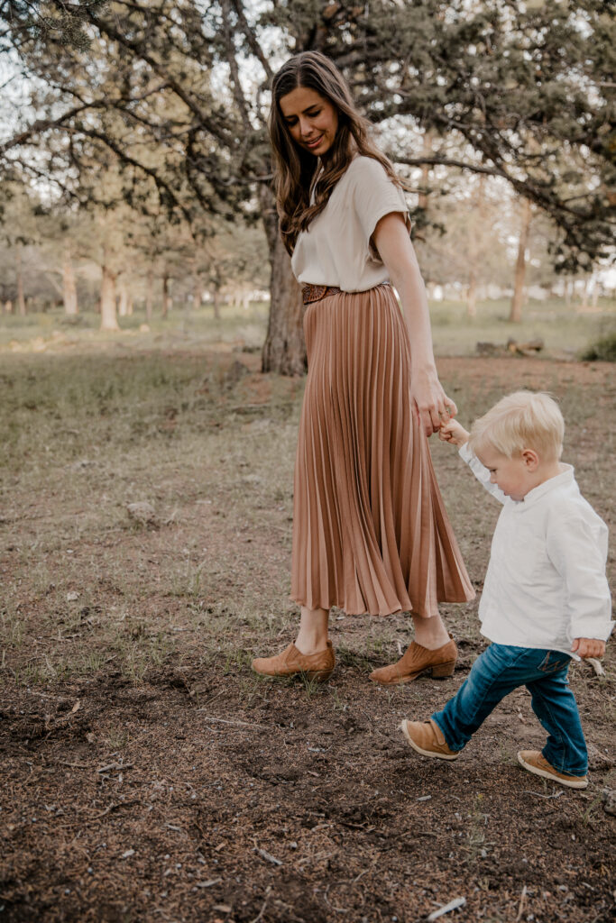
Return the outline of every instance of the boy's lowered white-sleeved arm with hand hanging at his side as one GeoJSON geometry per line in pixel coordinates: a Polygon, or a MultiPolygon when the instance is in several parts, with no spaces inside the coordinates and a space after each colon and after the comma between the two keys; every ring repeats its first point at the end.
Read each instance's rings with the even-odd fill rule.
{"type": "Polygon", "coordinates": [[[547,550],[567,587],[571,612],[572,651],[580,657],[600,657],[610,637],[610,587],[605,574],[607,528],[593,528],[583,516],[550,519],[547,550]]]}

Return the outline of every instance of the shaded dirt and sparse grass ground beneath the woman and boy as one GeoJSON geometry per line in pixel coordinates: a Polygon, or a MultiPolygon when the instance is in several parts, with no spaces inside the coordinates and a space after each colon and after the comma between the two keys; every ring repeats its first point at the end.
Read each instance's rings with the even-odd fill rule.
{"type": "MultiPolygon", "coordinates": [[[[585,792],[517,765],[543,741],[525,690],[454,764],[422,760],[397,730],[464,681],[485,643],[477,602],[443,606],[453,679],[373,686],[409,620],[337,611],[327,685],[255,677],[250,658],[296,622],[302,383],[260,376],[255,355],[170,355],[133,406],[119,382],[151,360],[122,361],[74,406],[53,377],[75,381],[81,359],[19,358],[3,382],[17,426],[0,519],[0,921],[412,923],[454,899],[442,919],[613,919],[613,641],[606,676],[571,671],[585,792]],[[151,519],[129,519],[128,500],[151,501],[151,519]]],[[[561,397],[567,461],[613,529],[613,366],[449,359],[440,372],[463,421],[520,384],[561,397]]],[[[480,592],[498,509],[453,450],[432,449],[480,592]]]]}

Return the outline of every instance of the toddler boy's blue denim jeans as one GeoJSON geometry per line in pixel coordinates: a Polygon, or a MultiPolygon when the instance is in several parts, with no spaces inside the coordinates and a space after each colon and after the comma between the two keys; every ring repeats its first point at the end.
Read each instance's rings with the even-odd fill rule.
{"type": "Polygon", "coordinates": [[[490,644],[453,699],[432,719],[449,749],[461,750],[501,699],[525,686],[533,711],[550,735],[542,751],[550,766],[559,773],[586,775],[586,741],[567,678],[570,662],[561,651],[490,644]]]}

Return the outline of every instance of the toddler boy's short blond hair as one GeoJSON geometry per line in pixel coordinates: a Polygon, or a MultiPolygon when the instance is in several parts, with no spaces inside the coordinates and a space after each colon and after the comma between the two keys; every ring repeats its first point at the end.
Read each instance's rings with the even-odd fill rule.
{"type": "Polygon", "coordinates": [[[533,449],[551,462],[561,457],[563,436],[561,409],[549,394],[515,391],[475,421],[468,447],[477,454],[491,446],[510,459],[533,449]]]}

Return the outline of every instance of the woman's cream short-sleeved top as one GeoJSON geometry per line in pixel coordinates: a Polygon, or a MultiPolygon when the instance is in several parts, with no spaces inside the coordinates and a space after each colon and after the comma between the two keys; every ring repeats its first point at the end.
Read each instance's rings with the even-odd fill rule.
{"type": "Polygon", "coordinates": [[[296,240],[291,265],[297,282],[366,292],[389,273],[370,238],[384,215],[400,212],[410,232],[405,198],[372,157],[356,156],[325,206],[296,240]]]}

